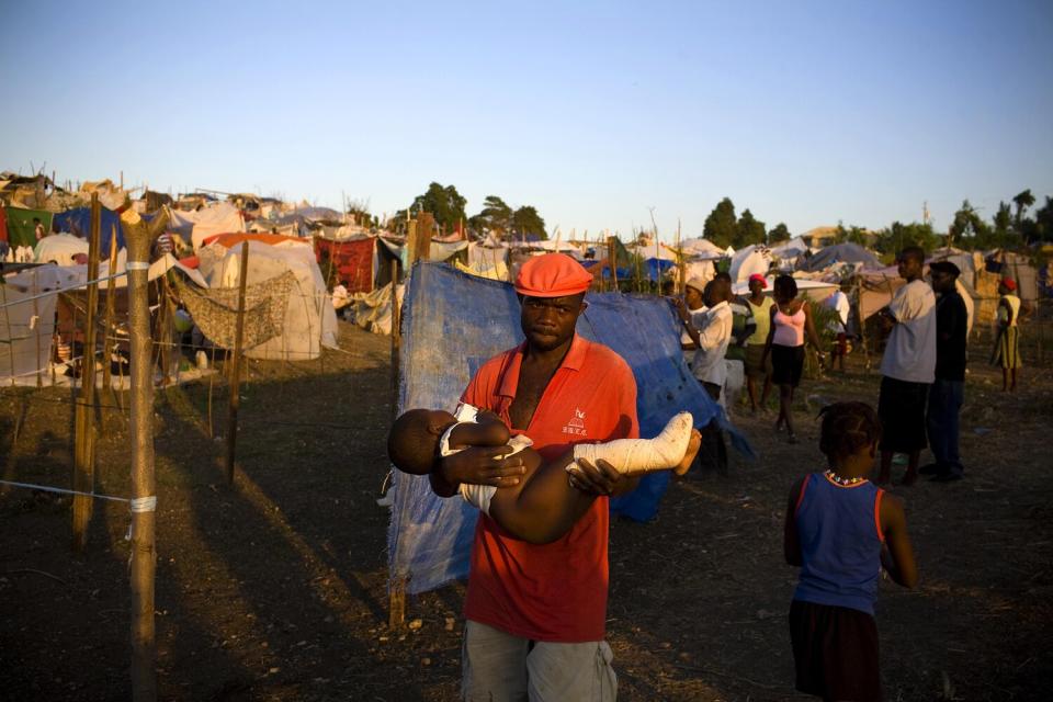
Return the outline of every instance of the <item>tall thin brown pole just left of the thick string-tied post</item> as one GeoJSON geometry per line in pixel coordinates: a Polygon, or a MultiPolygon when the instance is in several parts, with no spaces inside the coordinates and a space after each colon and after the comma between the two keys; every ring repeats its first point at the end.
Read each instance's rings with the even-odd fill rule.
{"type": "MultiPolygon", "coordinates": [[[[80,401],[73,412],[73,489],[95,491],[95,308],[99,306],[99,229],[102,207],[99,194],[91,195],[91,236],[88,239],[88,309],[84,320],[84,352],[80,362],[80,401]]],[[[83,551],[88,543],[92,498],[73,496],[73,548],[83,551]]]]}

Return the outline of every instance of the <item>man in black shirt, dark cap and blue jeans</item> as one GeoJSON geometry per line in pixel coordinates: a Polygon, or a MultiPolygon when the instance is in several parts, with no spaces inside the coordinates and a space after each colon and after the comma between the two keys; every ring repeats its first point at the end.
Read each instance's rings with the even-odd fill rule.
{"type": "Polygon", "coordinates": [[[938,482],[960,480],[964,468],[958,453],[958,416],[965,389],[965,336],[969,314],[955,288],[961,271],[950,261],[929,265],[936,293],[936,380],[929,388],[926,428],[936,462],[918,469],[938,482]]]}

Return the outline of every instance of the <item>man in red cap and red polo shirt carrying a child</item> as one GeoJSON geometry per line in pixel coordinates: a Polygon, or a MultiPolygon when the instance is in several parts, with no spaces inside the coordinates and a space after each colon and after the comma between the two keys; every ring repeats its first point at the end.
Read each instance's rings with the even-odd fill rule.
{"type": "MultiPolygon", "coordinates": [[[[516,281],[526,340],[490,359],[462,400],[500,416],[525,433],[545,460],[575,443],[632,439],[636,383],[629,365],[604,346],[575,333],[592,276],[570,257],[529,260],[516,281]]],[[[461,483],[516,485],[522,475],[507,448],[467,449],[431,474],[438,495],[461,483]]],[[[636,479],[600,461],[581,463],[571,485],[596,501],[557,541],[512,539],[485,514],[472,546],[465,598],[463,697],[492,702],[614,700],[618,680],[605,635],[608,496],[636,479]]]]}

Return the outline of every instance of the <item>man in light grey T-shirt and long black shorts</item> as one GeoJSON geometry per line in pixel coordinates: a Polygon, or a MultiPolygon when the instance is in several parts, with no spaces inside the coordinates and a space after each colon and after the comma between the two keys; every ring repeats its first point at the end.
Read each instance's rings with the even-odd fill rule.
{"type": "Polygon", "coordinates": [[[896,257],[899,276],[907,284],[896,291],[879,314],[892,327],[881,359],[881,473],[887,483],[894,453],[907,454],[904,485],[918,479],[918,456],[925,449],[925,401],[936,378],[936,296],[921,280],[925,251],[907,247],[896,257]]]}

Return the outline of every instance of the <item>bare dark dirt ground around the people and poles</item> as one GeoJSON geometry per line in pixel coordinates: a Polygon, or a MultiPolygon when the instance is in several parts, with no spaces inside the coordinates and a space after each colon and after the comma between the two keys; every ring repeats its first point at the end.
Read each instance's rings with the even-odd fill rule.
{"type": "MultiPolygon", "coordinates": [[[[341,322],[340,343],[321,361],[250,363],[234,488],[212,438],[224,389],[212,393],[214,431],[207,382],[158,392],[160,699],[457,699],[463,587],[410,599],[410,625],[387,626],[388,511],[376,498],[390,341],[341,322]]],[[[986,351],[974,346],[966,389],[966,479],[892,488],[921,581],[881,586],[890,700],[1037,700],[1053,688],[1053,377],[1031,366],[1003,394],[986,351]]],[[[804,699],[793,692],[783,510],[793,480],[823,467],[814,410],[876,401],[876,372],[849,361],[846,375],[803,384],[801,444],[773,433],[773,416],[736,414],[758,461],[689,474],[653,522],[612,524],[620,699],[804,699]]],[[[127,496],[117,399],[101,400],[114,408],[102,410],[98,491],[127,496]]],[[[68,390],[0,389],[5,479],[70,485],[69,401],[68,390]]],[[[68,498],[0,491],[0,699],[129,698],[128,522],[126,506],[99,501],[77,555],[68,498]]]]}

